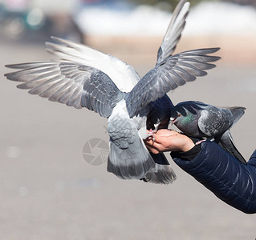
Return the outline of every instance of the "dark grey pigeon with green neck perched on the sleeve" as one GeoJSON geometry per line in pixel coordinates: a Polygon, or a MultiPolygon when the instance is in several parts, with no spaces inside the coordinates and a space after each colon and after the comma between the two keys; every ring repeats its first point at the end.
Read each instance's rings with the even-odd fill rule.
{"type": "Polygon", "coordinates": [[[187,101],[174,106],[171,122],[184,134],[194,138],[208,138],[216,141],[240,162],[245,158],[234,145],[230,128],[245,113],[242,106],[217,107],[203,102],[187,101]]]}

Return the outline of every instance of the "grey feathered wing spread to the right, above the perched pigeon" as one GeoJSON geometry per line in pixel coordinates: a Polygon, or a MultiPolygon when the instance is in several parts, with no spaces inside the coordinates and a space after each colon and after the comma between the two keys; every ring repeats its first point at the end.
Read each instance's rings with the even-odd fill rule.
{"type": "Polygon", "coordinates": [[[125,96],[130,117],[148,105],[149,102],[163,97],[169,90],[174,90],[196,77],[205,76],[205,70],[215,67],[220,57],[209,56],[219,48],[189,50],[166,58],[148,72],[140,82],[125,96]]]}

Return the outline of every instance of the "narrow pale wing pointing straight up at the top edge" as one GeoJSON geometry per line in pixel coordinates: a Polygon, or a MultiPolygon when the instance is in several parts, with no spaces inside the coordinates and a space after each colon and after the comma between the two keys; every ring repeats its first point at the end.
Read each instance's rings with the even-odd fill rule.
{"type": "Polygon", "coordinates": [[[186,0],[181,0],[173,12],[171,22],[166,31],[165,38],[158,50],[156,65],[161,63],[165,58],[168,58],[173,54],[181,38],[181,32],[185,27],[185,19],[189,14],[190,3],[186,0]]]}

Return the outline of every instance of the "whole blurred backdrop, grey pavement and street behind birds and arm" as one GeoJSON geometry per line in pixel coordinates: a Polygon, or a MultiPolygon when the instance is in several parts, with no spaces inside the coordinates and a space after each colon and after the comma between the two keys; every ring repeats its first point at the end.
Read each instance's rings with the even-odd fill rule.
{"type": "MultiPolygon", "coordinates": [[[[231,132],[248,159],[256,148],[255,1],[191,2],[176,52],[220,46],[222,59],[169,96],[174,103],[245,106],[231,132]]],[[[0,1],[0,239],[256,238],[256,216],[221,202],[170,157],[177,181],[169,186],[109,174],[101,149],[84,148],[95,138],[108,142],[107,119],[31,96],[3,76],[5,64],[51,59],[43,45],[51,35],[113,54],[142,76],[155,64],[176,4],[0,1]],[[103,163],[89,164],[84,151],[103,163]]]]}

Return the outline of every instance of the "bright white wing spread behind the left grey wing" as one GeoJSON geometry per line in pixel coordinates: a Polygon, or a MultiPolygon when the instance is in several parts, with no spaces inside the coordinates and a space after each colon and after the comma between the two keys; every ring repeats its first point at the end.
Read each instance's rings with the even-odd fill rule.
{"type": "Polygon", "coordinates": [[[79,62],[82,65],[101,70],[123,92],[132,90],[133,86],[140,80],[136,70],[118,58],[79,43],[67,41],[62,38],[51,38],[61,44],[46,42],[49,53],[55,54],[62,60],[79,62]]]}

